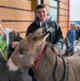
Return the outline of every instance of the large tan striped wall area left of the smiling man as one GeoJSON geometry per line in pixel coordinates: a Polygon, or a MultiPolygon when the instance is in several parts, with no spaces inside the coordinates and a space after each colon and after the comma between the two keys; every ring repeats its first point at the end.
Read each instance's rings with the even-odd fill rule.
{"type": "Polygon", "coordinates": [[[25,31],[34,20],[31,0],[0,0],[0,19],[3,27],[12,28],[25,37],[25,31]]]}

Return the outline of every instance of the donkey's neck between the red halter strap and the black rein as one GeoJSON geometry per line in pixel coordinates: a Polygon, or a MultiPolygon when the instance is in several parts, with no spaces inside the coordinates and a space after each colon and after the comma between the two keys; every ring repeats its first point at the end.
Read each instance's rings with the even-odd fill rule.
{"type": "Polygon", "coordinates": [[[51,49],[51,46],[47,45],[47,47],[39,61],[37,70],[35,70],[33,68],[35,76],[38,79],[41,79],[41,81],[45,81],[44,76],[46,76],[45,79],[47,80],[47,78],[48,78],[47,75],[50,77],[51,74],[53,74],[53,68],[54,68],[54,64],[55,64],[55,56],[56,56],[56,54],[54,54],[53,50],[51,49]]]}

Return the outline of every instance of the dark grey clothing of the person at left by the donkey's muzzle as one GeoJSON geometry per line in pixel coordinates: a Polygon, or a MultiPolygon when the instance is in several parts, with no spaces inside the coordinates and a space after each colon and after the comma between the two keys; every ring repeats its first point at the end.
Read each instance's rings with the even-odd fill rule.
{"type": "MultiPolygon", "coordinates": [[[[8,58],[11,56],[14,49],[11,47],[12,42],[20,41],[22,38],[18,33],[13,31],[12,29],[5,29],[6,35],[5,38],[7,40],[8,46],[8,58]]],[[[0,81],[27,81],[24,79],[24,75],[26,76],[26,71],[17,70],[17,71],[9,71],[6,66],[7,61],[4,60],[2,54],[0,53],[0,81]]]]}

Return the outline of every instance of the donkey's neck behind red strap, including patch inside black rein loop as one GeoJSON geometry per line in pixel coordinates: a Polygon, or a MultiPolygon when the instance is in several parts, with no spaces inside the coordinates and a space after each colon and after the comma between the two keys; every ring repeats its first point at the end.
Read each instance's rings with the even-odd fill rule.
{"type": "Polygon", "coordinates": [[[64,74],[64,67],[62,58],[58,55],[54,54],[51,46],[47,46],[44,54],[42,55],[37,70],[33,68],[35,73],[35,77],[38,78],[40,81],[54,81],[53,79],[53,70],[56,62],[56,57],[58,61],[57,69],[56,69],[56,78],[60,80],[64,74]],[[61,75],[62,73],[62,75],[61,75]],[[46,77],[46,78],[45,78],[46,77]]]}

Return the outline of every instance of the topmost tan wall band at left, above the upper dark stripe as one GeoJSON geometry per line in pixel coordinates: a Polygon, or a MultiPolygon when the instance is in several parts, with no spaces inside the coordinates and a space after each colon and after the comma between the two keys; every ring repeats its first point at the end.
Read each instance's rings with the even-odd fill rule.
{"type": "Polygon", "coordinates": [[[31,10],[31,1],[28,0],[0,0],[0,5],[31,10]]]}

